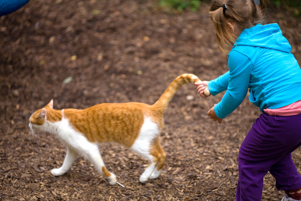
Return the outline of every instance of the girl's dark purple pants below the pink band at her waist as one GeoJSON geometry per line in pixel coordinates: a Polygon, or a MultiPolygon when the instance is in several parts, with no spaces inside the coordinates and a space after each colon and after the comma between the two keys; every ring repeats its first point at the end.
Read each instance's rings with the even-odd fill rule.
{"type": "Polygon", "coordinates": [[[278,190],[301,187],[291,152],[301,146],[301,114],[260,115],[241,144],[236,201],[261,201],[263,177],[270,171],[278,190]]]}

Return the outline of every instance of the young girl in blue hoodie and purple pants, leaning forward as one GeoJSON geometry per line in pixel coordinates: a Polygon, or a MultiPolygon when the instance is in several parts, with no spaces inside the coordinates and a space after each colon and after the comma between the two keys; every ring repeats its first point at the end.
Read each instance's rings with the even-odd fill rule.
{"type": "Polygon", "coordinates": [[[276,188],[285,191],[282,201],[301,200],[301,177],[291,158],[301,146],[301,69],[278,24],[262,25],[266,3],[259,2],[213,1],[209,14],[219,47],[228,53],[229,71],[195,88],[202,97],[207,97],[205,87],[213,96],[227,90],[208,111],[220,124],[244,100],[248,88],[249,100],[263,112],[240,146],[236,201],[260,201],[268,171],[276,188]]]}

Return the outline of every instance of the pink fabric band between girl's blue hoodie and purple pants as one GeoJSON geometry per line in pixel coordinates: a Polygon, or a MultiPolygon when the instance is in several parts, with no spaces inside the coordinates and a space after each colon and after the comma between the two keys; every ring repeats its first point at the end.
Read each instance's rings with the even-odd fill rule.
{"type": "Polygon", "coordinates": [[[277,109],[265,108],[263,111],[265,111],[265,113],[269,115],[278,115],[278,116],[298,115],[301,114],[301,100],[277,109]]]}

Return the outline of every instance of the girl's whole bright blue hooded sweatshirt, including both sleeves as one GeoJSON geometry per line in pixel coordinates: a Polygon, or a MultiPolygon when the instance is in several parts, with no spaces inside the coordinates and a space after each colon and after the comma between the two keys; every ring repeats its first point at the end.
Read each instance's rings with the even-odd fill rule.
{"type": "Polygon", "coordinates": [[[228,54],[229,71],[209,81],[209,91],[226,91],[214,111],[225,118],[247,95],[263,109],[277,109],[301,100],[301,69],[278,24],[258,24],[243,30],[228,54]]]}

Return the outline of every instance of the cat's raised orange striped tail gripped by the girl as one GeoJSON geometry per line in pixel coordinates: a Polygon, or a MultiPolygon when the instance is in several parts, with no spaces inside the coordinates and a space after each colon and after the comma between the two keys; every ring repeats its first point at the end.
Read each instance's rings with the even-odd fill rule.
{"type": "MultiPolygon", "coordinates": [[[[194,74],[182,74],[175,78],[175,80],[172,81],[172,83],[167,87],[165,92],[162,94],[162,96],[155,102],[152,107],[156,108],[159,111],[164,111],[164,109],[167,107],[168,103],[171,101],[172,97],[175,95],[175,92],[178,90],[180,86],[182,86],[185,83],[196,83],[200,82],[201,80],[194,74]]],[[[204,94],[206,96],[209,96],[209,90],[206,88],[204,90],[204,94]]]]}

